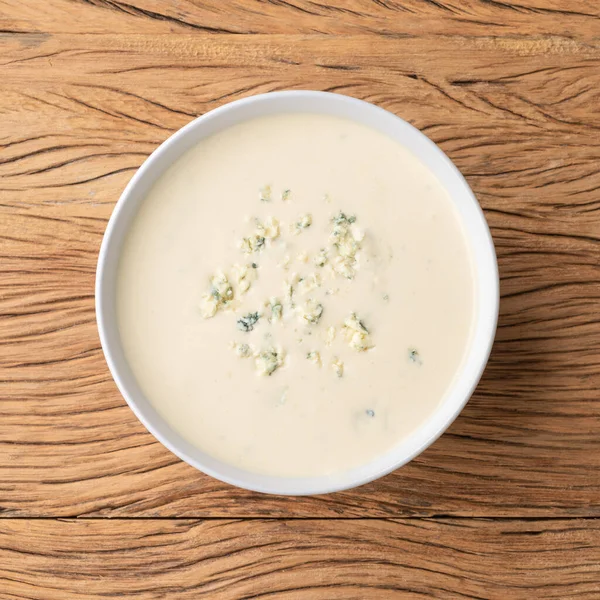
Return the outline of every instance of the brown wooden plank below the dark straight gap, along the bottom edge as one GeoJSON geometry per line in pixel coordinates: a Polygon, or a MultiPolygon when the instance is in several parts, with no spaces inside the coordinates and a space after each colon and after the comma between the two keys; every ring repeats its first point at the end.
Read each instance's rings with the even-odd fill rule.
{"type": "Polygon", "coordinates": [[[597,598],[599,540],[596,520],[2,520],[0,585],[28,600],[597,598]]]}

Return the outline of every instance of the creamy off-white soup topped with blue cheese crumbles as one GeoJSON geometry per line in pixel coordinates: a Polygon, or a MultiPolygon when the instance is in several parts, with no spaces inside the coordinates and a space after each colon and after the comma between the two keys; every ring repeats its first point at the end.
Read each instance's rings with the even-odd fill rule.
{"type": "Polygon", "coordinates": [[[458,215],[406,148],[288,114],[199,143],[148,194],[117,290],[156,410],[229,464],[317,476],[423,424],[474,320],[458,215]]]}

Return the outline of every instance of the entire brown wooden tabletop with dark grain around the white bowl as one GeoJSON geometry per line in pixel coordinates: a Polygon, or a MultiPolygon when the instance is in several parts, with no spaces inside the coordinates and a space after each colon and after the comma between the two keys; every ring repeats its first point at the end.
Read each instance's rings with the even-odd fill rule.
{"type": "Polygon", "coordinates": [[[0,598],[600,598],[599,165],[596,0],[0,0],[0,598]],[[450,430],[315,498],[175,458],[94,319],[102,234],[146,156],[288,88],[437,142],[502,277],[450,430]]]}

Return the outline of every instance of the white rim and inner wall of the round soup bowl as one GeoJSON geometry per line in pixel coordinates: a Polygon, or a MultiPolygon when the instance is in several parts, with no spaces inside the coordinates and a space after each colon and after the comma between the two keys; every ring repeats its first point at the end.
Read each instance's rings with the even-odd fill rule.
{"type": "Polygon", "coordinates": [[[102,241],[96,275],[96,317],[108,367],[123,397],[148,431],[171,452],[204,473],[239,487],[272,494],[322,494],[362,485],[404,465],[433,443],[473,393],[488,360],[498,318],[496,254],[483,212],[450,159],[425,135],[392,113],[348,96],[313,91],[273,92],[221,106],[186,125],[161,144],[125,188],[102,241]],[[474,259],[477,315],[462,372],[437,411],[408,438],[368,464],[336,475],[272,477],[243,471],[184,440],[144,397],[125,359],[116,319],[116,281],[121,249],[146,194],[182,154],[201,139],[241,121],[275,113],[309,112],[345,117],[381,131],[410,149],[448,191],[462,220],[474,259]]]}

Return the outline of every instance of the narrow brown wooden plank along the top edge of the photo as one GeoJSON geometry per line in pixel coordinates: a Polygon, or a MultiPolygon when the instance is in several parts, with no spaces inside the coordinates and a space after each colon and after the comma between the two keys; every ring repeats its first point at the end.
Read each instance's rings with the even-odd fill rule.
{"type": "Polygon", "coordinates": [[[591,0],[3,0],[0,31],[555,35],[598,42],[591,0]]]}

